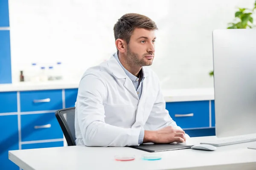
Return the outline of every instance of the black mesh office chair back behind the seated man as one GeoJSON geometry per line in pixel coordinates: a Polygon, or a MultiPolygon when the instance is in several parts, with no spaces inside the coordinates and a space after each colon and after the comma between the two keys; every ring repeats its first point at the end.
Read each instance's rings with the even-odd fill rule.
{"type": "Polygon", "coordinates": [[[68,146],[75,146],[75,107],[60,109],[55,112],[68,146]]]}

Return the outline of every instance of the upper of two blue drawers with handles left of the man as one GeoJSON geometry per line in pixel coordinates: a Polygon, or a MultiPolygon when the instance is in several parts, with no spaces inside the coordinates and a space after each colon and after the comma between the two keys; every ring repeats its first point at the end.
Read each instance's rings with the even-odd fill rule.
{"type": "Polygon", "coordinates": [[[20,111],[51,111],[62,108],[62,90],[20,92],[20,111]]]}

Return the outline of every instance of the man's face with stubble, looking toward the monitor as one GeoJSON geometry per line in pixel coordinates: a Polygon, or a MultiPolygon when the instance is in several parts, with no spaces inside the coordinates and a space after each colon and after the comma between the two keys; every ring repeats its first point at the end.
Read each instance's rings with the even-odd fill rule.
{"type": "Polygon", "coordinates": [[[127,62],[139,67],[151,65],[155,52],[154,30],[135,28],[127,46],[127,62]]]}

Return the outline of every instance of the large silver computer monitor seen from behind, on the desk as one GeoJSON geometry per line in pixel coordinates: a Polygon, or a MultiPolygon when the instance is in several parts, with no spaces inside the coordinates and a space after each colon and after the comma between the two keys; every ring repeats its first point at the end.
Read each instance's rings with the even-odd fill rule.
{"type": "Polygon", "coordinates": [[[217,137],[256,133],[256,29],[213,31],[217,137]]]}

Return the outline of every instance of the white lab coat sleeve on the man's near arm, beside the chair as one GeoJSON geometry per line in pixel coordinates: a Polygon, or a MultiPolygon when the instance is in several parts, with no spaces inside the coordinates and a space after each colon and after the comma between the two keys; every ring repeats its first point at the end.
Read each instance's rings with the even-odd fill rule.
{"type": "Polygon", "coordinates": [[[77,118],[86,146],[138,145],[142,127],[122,128],[105,123],[103,101],[108,95],[107,86],[99,75],[85,75],[79,84],[77,118]]]}

